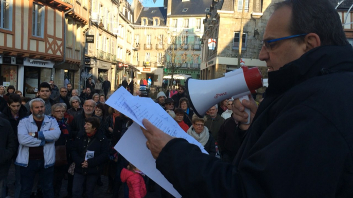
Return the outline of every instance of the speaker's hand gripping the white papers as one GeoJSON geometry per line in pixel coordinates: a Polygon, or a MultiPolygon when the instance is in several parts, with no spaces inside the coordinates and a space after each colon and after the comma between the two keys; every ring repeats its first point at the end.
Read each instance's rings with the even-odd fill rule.
{"type": "Polygon", "coordinates": [[[158,155],[162,151],[163,147],[174,137],[168,135],[167,133],[161,131],[147,119],[142,121],[147,130],[141,127],[144,135],[147,138],[147,148],[151,150],[154,159],[157,159],[158,155]]]}

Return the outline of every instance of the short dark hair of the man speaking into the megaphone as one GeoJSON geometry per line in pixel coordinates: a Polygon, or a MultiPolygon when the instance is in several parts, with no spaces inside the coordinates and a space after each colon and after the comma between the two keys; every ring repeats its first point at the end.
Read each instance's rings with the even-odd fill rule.
{"type": "MultiPolygon", "coordinates": [[[[340,16],[328,0],[286,0],[274,4],[275,10],[284,6],[292,8],[289,25],[292,35],[315,33],[321,46],[348,44],[340,16]]],[[[304,36],[295,39],[303,42],[304,36]]]]}

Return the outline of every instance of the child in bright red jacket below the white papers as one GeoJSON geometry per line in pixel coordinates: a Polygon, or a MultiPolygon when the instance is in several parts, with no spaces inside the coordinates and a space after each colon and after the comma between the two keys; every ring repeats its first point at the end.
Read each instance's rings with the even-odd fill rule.
{"type": "Polygon", "coordinates": [[[146,184],[141,174],[143,173],[131,163],[129,163],[128,169],[123,168],[121,170],[121,182],[128,184],[129,198],[142,198],[146,196],[146,184]]]}

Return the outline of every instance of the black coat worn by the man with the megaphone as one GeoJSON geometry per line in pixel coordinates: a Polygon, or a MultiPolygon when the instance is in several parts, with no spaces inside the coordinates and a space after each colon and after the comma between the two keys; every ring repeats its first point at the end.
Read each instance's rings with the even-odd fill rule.
{"type": "Polygon", "coordinates": [[[352,54],[317,47],[269,72],[233,165],[174,138],[157,169],[183,197],[353,197],[352,54]]]}

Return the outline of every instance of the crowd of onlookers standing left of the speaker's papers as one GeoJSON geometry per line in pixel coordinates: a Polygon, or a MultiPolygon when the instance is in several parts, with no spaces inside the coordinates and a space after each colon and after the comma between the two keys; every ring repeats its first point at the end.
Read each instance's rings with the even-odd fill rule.
{"type": "Polygon", "coordinates": [[[13,164],[16,198],[93,197],[101,175],[108,176],[108,196],[118,197],[122,185],[129,197],[146,195],[147,177],[113,148],[132,121],[105,104],[110,95],[97,93],[98,83],[89,80],[80,93],[69,83],[59,89],[44,82],[35,98],[0,86],[0,197],[7,196],[13,164]],[[136,188],[130,175],[143,178],[141,189],[128,189],[136,188]],[[60,194],[64,179],[67,194],[60,194]]]}

